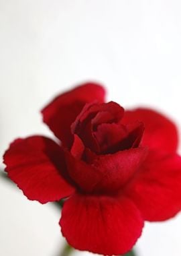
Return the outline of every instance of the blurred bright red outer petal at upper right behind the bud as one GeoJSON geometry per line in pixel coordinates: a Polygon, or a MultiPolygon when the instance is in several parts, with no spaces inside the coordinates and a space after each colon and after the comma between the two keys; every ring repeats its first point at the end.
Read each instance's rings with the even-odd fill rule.
{"type": "Polygon", "coordinates": [[[145,125],[142,145],[164,153],[176,152],[178,133],[176,126],[164,115],[148,108],[125,111],[123,123],[141,121],[145,125]]]}

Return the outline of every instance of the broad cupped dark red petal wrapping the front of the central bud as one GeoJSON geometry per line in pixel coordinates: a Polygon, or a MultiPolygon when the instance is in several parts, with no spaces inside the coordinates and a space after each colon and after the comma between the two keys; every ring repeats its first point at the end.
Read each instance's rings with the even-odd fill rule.
{"type": "Polygon", "coordinates": [[[145,148],[134,148],[97,156],[87,164],[66,152],[66,164],[70,177],[78,189],[88,193],[110,194],[121,189],[145,159],[145,148]]]}

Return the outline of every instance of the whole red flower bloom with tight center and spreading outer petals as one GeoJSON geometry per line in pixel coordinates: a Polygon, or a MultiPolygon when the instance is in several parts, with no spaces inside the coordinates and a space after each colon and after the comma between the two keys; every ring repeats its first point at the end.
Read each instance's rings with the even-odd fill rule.
{"type": "Polygon", "coordinates": [[[9,178],[28,199],[66,198],[60,226],[72,247],[127,253],[145,220],[172,218],[181,207],[181,158],[172,121],[155,110],[105,103],[89,83],[42,110],[61,142],[35,135],[5,152],[9,178]]]}

